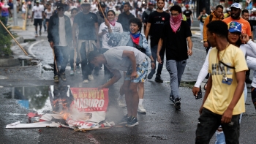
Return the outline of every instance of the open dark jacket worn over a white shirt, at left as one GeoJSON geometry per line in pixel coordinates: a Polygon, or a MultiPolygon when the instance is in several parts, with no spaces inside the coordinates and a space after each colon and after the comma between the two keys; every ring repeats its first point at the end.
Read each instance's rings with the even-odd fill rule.
{"type": "MultiPolygon", "coordinates": [[[[64,15],[65,18],[65,31],[67,44],[72,44],[72,26],[70,19],[64,15]]],[[[59,16],[55,14],[50,17],[48,26],[48,41],[53,42],[54,45],[59,45],[59,16]]]]}

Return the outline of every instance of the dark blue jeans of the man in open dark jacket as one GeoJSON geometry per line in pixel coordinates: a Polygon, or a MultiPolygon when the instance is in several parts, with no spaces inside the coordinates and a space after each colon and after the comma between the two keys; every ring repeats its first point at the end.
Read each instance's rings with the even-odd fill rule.
{"type": "Polygon", "coordinates": [[[67,46],[65,47],[54,46],[53,49],[54,49],[55,58],[58,66],[59,66],[58,61],[60,61],[60,59],[62,58],[62,61],[59,62],[61,65],[61,69],[59,70],[59,73],[56,71],[56,65],[53,61],[53,72],[55,76],[65,72],[65,69],[67,67],[67,62],[69,61],[69,48],[67,46]]]}

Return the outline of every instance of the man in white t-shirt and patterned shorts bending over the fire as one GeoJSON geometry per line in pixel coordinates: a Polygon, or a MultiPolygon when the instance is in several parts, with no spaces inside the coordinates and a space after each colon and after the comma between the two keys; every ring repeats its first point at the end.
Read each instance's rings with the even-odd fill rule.
{"type": "MultiPolygon", "coordinates": [[[[127,103],[127,115],[120,121],[119,124],[126,124],[126,126],[138,125],[137,111],[138,111],[138,83],[146,80],[148,73],[148,58],[140,52],[140,50],[129,47],[120,46],[115,47],[107,52],[100,54],[97,51],[89,53],[89,62],[95,67],[105,64],[105,66],[113,72],[114,76],[108,83],[105,83],[99,88],[108,88],[116,83],[121,78],[121,71],[127,71],[124,77],[124,94],[127,103]]],[[[154,69],[154,63],[151,67],[154,69]]]]}

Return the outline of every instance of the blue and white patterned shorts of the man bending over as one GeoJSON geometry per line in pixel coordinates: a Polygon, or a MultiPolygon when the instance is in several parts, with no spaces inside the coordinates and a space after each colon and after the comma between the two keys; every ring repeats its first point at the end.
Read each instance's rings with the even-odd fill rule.
{"type": "Polygon", "coordinates": [[[127,71],[127,75],[124,80],[131,80],[133,83],[140,83],[146,80],[148,75],[148,58],[145,58],[141,64],[136,65],[137,77],[131,80],[132,68],[129,68],[127,71]]]}

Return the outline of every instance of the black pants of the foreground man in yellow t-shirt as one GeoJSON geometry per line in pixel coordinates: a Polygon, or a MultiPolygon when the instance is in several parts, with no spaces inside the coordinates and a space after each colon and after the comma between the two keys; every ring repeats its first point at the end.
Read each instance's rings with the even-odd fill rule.
{"type": "Polygon", "coordinates": [[[219,125],[222,126],[225,134],[225,140],[227,144],[238,144],[240,135],[240,115],[233,115],[231,121],[233,125],[222,124],[222,115],[212,113],[210,110],[203,108],[203,112],[198,118],[197,130],[196,130],[196,144],[208,144],[211,137],[214,135],[219,125]]]}

